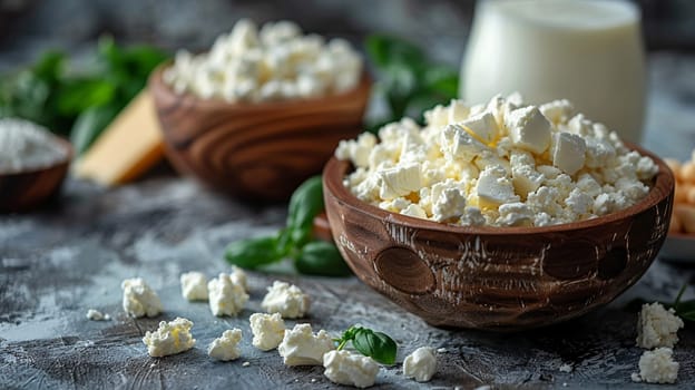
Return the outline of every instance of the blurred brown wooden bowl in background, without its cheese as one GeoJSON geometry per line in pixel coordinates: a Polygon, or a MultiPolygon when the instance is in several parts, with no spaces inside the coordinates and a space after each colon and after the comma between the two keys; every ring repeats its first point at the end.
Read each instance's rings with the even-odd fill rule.
{"type": "Polygon", "coordinates": [[[236,197],[284,201],[321,173],[341,139],[354,138],[370,92],[366,74],[345,94],[316,99],[231,104],[178,95],[149,79],[169,160],[183,174],[236,197]]]}

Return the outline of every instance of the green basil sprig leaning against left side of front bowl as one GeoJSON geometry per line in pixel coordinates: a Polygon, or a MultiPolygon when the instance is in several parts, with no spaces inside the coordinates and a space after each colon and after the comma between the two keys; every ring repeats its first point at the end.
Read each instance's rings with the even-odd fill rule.
{"type": "Polygon", "coordinates": [[[324,208],[321,176],[304,182],[290,198],[286,226],[274,235],[231,243],[227,262],[244,269],[257,269],[292,259],[303,274],[345,276],[351,271],[334,244],[314,240],[314,217],[324,208]]]}

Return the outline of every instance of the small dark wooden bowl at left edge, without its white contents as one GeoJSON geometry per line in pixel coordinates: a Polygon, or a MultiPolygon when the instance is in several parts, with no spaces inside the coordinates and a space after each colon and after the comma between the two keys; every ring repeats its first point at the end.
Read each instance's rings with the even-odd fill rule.
{"type": "Polygon", "coordinates": [[[29,212],[56,195],[70,166],[72,146],[58,139],[67,157],[51,166],[0,173],[0,213],[29,212]]]}

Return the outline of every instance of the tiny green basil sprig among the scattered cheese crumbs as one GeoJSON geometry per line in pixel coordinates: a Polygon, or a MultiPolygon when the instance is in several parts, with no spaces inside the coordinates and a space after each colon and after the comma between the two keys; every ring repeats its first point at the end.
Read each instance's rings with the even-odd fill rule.
{"type": "Polygon", "coordinates": [[[395,363],[398,347],[395,341],[388,334],[375,332],[369,328],[350,326],[340,339],[333,340],[337,343],[337,350],[345,348],[349,341],[352,342],[358,352],[374,359],[376,362],[391,365],[395,363]]]}

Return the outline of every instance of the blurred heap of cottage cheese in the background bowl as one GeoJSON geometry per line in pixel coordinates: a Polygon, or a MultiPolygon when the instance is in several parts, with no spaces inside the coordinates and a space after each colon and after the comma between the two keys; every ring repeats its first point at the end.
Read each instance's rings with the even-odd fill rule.
{"type": "Polygon", "coordinates": [[[304,36],[293,22],[236,22],[208,52],[182,50],[164,80],[176,92],[235,101],[315,98],[355,88],[362,59],[344,39],[304,36]]]}

